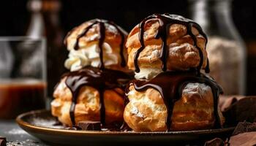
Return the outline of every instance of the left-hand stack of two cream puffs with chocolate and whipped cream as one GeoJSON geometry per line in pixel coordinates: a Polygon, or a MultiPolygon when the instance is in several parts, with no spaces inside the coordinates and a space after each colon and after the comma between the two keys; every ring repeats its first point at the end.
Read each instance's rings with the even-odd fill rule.
{"type": "Polygon", "coordinates": [[[129,81],[124,66],[126,37],[127,32],[115,23],[99,19],[89,20],[67,34],[64,42],[69,58],[64,65],[70,72],[61,77],[51,102],[52,115],[61,123],[123,122],[124,88],[129,81]]]}

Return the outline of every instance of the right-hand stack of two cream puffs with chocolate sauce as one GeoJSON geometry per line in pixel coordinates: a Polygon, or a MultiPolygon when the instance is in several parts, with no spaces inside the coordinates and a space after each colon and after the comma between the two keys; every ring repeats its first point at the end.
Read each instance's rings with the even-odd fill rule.
{"type": "Polygon", "coordinates": [[[206,40],[197,23],[178,15],[151,15],[130,31],[126,43],[127,65],[136,71],[138,64],[139,69],[127,90],[129,103],[124,110],[124,121],[130,128],[134,131],[187,131],[214,128],[218,122],[222,126],[225,120],[222,113],[219,108],[214,111],[214,104],[217,104],[214,98],[218,98],[222,90],[211,77],[200,73],[208,64],[206,40]],[[161,58],[162,49],[166,52],[165,61],[161,58]],[[162,67],[164,64],[166,69],[162,67]],[[156,82],[158,85],[154,84],[156,82]],[[176,82],[183,84],[178,100],[173,102],[173,107],[167,107],[171,103],[165,103],[164,99],[173,97],[163,97],[162,92],[167,91],[161,90],[178,93],[178,88],[161,88],[159,84],[176,82]],[[168,110],[171,112],[169,119],[168,110]]]}

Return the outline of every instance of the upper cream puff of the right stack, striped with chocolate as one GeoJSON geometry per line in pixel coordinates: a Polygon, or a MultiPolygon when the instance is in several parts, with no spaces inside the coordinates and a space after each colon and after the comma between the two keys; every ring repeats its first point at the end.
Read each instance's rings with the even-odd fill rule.
{"type": "Polygon", "coordinates": [[[151,15],[129,33],[127,66],[135,70],[137,79],[150,79],[165,70],[207,70],[206,42],[206,34],[192,20],[151,15]],[[165,20],[170,21],[167,30],[161,26],[165,20]]]}

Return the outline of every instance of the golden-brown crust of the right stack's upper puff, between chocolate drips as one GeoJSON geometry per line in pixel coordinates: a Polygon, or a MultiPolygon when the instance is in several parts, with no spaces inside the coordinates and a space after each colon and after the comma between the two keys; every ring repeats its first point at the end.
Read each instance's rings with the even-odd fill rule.
{"type": "MultiPolygon", "coordinates": [[[[157,19],[147,20],[144,26],[144,43],[145,48],[140,53],[138,65],[140,68],[159,68],[161,69],[162,61],[160,60],[160,50],[162,47],[161,39],[154,39],[157,33],[159,21],[157,19]]],[[[132,29],[127,38],[126,46],[128,48],[128,67],[134,69],[135,52],[140,47],[138,25],[132,29]]],[[[192,33],[197,38],[197,46],[203,52],[204,69],[207,64],[207,53],[205,49],[206,39],[199,34],[196,28],[192,28],[192,33]]],[[[197,67],[200,64],[200,55],[194,47],[192,38],[187,34],[187,28],[181,24],[173,24],[167,33],[167,46],[169,47],[169,56],[167,58],[168,70],[187,70],[197,67]]]]}

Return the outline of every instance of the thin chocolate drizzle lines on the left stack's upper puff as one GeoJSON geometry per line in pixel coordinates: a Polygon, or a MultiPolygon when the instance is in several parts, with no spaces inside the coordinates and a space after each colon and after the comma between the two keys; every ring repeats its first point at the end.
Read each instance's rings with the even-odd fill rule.
{"type": "MultiPolygon", "coordinates": [[[[89,26],[87,26],[86,28],[83,29],[83,31],[78,35],[78,37],[76,38],[76,42],[75,42],[75,50],[79,49],[79,39],[81,37],[86,36],[86,34],[88,33],[88,31],[94,26],[94,25],[98,25],[99,26],[99,42],[98,42],[98,46],[99,46],[99,59],[100,59],[100,64],[99,64],[99,68],[100,69],[104,69],[104,62],[103,62],[103,42],[105,40],[105,24],[108,24],[110,26],[113,26],[114,28],[116,28],[116,30],[118,31],[118,34],[120,34],[121,36],[121,43],[120,43],[120,56],[121,56],[121,66],[126,66],[126,62],[125,62],[125,58],[124,58],[124,39],[125,39],[125,34],[124,31],[121,30],[121,28],[119,28],[116,23],[113,23],[112,21],[109,20],[101,20],[101,19],[95,19],[95,20],[91,20],[91,24],[89,26]]],[[[72,29],[72,31],[74,31],[75,29],[72,29]]],[[[67,37],[69,37],[70,34],[72,34],[72,31],[69,31],[69,33],[67,34],[67,36],[64,39],[64,43],[67,44],[67,37]]]]}

